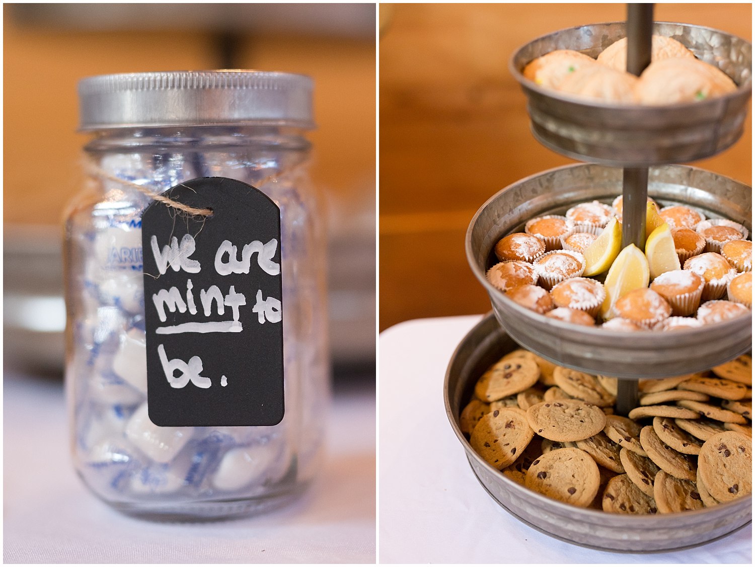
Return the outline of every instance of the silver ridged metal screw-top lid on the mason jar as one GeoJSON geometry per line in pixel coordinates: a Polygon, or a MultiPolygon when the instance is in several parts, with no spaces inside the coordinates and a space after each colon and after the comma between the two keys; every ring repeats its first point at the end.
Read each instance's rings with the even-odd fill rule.
{"type": "Polygon", "coordinates": [[[248,70],[140,72],[79,81],[82,131],[205,125],[314,128],[307,75],[248,70]]]}

